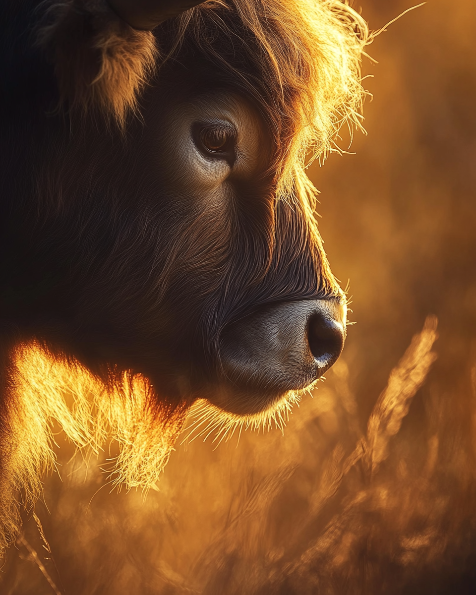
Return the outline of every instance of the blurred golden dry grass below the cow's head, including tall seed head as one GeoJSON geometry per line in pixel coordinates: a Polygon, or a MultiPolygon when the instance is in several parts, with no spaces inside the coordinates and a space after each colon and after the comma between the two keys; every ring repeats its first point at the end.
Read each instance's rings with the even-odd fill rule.
{"type": "Polygon", "coordinates": [[[63,483],[46,484],[50,513],[37,506],[50,543],[39,521],[26,522],[2,593],[340,595],[401,593],[405,584],[417,593],[415,576],[441,570],[461,547],[467,558],[462,525],[476,481],[476,469],[461,473],[469,436],[459,445],[465,457],[453,450],[451,471],[441,466],[443,401],[433,399],[426,437],[400,435],[436,338],[429,317],[365,435],[340,362],[292,415],[284,439],[274,430],[242,433],[238,446],[219,449],[194,441],[174,453],[161,491],[145,500],[105,492],[95,464],[73,454],[60,468],[63,483]]]}

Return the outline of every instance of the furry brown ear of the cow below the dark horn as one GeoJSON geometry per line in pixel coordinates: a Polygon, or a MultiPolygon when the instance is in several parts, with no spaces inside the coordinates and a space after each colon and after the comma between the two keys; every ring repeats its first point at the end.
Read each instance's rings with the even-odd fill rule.
{"type": "Polygon", "coordinates": [[[130,27],[105,0],[49,2],[37,44],[54,63],[61,103],[121,128],[137,111],[158,54],[153,33],[130,27]]]}

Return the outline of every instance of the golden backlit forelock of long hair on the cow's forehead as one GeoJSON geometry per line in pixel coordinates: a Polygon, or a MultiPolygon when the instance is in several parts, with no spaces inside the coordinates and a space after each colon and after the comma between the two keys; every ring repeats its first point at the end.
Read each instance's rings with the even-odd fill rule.
{"type": "MultiPolygon", "coordinates": [[[[361,127],[362,17],[339,0],[210,0],[168,21],[165,59],[199,51],[261,109],[275,137],[273,170],[289,192],[314,158],[361,127]]],[[[306,182],[305,182],[306,185],[306,182]]]]}

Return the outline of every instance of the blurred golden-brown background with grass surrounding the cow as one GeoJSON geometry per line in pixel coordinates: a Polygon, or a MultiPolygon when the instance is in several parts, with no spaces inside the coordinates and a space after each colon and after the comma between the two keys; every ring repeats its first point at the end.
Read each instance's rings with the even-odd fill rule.
{"type": "MultiPolygon", "coordinates": [[[[353,6],[375,30],[411,4],[353,6]]],[[[148,496],[58,436],[2,595],[476,592],[476,3],[429,0],[368,53],[368,136],[309,170],[342,359],[284,436],[179,440],[148,496]]]]}

